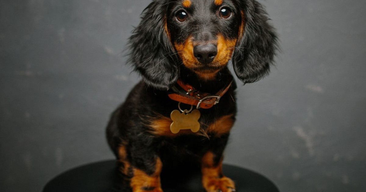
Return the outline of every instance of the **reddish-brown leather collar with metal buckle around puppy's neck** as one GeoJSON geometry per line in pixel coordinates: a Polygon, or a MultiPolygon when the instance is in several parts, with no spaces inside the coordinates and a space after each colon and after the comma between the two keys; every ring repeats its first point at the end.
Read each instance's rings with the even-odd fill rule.
{"type": "Polygon", "coordinates": [[[194,87],[190,84],[182,82],[180,79],[178,79],[177,84],[185,91],[185,93],[182,93],[184,91],[178,91],[178,88],[173,86],[173,92],[168,94],[169,98],[173,99],[174,101],[196,106],[197,109],[209,109],[219,103],[220,98],[229,90],[232,84],[232,78],[228,80],[228,83],[225,87],[217,91],[217,93],[214,95],[202,93],[194,89],[194,87]]]}

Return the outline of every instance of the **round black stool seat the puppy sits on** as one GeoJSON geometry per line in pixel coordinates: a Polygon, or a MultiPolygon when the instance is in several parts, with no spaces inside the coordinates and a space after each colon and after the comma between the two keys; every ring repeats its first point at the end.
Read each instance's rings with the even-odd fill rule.
{"type": "MultiPolygon", "coordinates": [[[[225,176],[231,178],[237,192],[279,192],[277,187],[264,176],[247,169],[224,165],[225,176]]],[[[204,192],[201,174],[191,173],[190,177],[175,178],[161,175],[164,192],[204,192]]],[[[71,169],[53,178],[43,192],[123,192],[122,181],[116,169],[116,161],[102,161],[71,169]]]]}

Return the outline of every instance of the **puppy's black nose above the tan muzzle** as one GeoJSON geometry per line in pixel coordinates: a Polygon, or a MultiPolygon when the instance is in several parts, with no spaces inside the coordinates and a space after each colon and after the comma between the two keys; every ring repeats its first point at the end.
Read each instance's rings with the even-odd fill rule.
{"type": "Polygon", "coordinates": [[[210,63],[217,55],[217,47],[214,44],[197,45],[193,48],[193,54],[201,63],[210,63]]]}

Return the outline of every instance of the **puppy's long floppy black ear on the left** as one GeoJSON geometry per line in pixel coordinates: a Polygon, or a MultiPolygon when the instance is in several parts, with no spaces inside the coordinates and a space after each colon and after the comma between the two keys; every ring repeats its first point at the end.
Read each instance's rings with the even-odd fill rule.
{"type": "Polygon", "coordinates": [[[178,78],[178,66],[166,22],[167,3],[153,0],[142,12],[140,24],[129,39],[135,71],[154,88],[167,90],[178,78]]]}

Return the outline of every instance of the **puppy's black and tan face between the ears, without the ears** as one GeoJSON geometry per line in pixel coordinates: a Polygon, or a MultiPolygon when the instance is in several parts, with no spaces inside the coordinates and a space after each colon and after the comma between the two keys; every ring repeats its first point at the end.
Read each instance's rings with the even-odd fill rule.
{"type": "Polygon", "coordinates": [[[234,53],[243,28],[231,0],[180,0],[169,4],[167,33],[184,66],[211,79],[234,53]]]}

